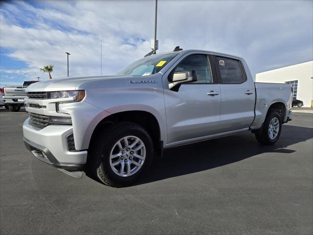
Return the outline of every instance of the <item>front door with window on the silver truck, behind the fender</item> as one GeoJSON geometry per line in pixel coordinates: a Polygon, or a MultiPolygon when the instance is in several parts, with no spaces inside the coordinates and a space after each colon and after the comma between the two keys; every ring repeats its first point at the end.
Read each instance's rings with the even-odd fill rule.
{"type": "Polygon", "coordinates": [[[174,71],[196,70],[198,80],[178,92],[164,89],[168,144],[219,133],[221,91],[210,64],[207,54],[191,54],[175,66],[174,71]]]}

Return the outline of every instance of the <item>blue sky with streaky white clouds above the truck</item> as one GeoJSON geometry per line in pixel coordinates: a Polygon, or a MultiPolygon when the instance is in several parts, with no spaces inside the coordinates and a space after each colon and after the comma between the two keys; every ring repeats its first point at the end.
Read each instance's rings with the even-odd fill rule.
{"type": "MultiPolygon", "coordinates": [[[[154,37],[154,0],[1,1],[0,86],[112,74],[141,58],[154,37]]],[[[251,73],[313,60],[313,1],[158,1],[159,51],[206,49],[242,56],[251,73]]]]}

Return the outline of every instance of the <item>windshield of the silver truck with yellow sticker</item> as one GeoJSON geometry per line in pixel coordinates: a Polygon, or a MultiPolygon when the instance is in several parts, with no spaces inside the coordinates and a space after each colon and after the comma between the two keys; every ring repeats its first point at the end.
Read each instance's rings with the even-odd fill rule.
{"type": "Polygon", "coordinates": [[[159,72],[179,53],[168,53],[159,55],[150,55],[135,61],[116,74],[131,76],[148,76],[159,72]]]}

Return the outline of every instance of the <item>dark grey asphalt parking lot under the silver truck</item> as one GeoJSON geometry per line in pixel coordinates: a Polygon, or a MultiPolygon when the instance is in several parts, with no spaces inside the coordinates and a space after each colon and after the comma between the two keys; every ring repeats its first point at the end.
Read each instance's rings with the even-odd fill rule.
{"type": "Polygon", "coordinates": [[[128,188],[35,159],[26,117],[0,110],[0,234],[313,233],[312,113],[294,113],[273,146],[244,133],[170,149],[128,188]]]}

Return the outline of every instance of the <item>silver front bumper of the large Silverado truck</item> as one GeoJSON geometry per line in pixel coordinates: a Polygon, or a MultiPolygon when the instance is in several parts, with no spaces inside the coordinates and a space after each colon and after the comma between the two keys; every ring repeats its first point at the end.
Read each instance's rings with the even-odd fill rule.
{"type": "Polygon", "coordinates": [[[29,118],[23,123],[26,148],[35,157],[58,168],[77,170],[86,164],[87,151],[68,150],[66,138],[72,132],[71,125],[48,125],[40,129],[32,125],[29,118]]]}

